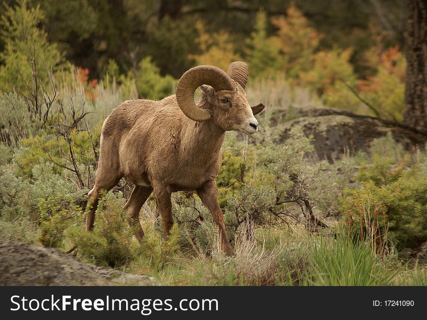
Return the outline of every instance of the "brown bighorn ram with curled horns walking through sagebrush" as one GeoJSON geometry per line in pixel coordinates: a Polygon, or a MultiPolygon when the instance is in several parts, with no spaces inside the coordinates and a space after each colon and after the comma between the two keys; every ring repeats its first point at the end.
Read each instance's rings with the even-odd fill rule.
{"type": "Polygon", "coordinates": [[[196,190],[217,224],[222,250],[231,255],[215,178],[225,132],[251,135],[258,130],[254,115],[264,106],[249,106],[247,76],[247,65],[240,61],[231,63],[227,73],[198,66],[182,75],[176,95],[160,101],[125,101],[115,108],[102,125],[86,230],[93,228],[100,191],[108,192],[125,177],[135,185],[124,209],[128,209],[129,225],[137,229],[138,242],[144,236],[139,212],[152,191],[166,237],[173,224],[171,193],[196,190]],[[194,93],[199,86],[202,91],[196,104],[194,93]]]}

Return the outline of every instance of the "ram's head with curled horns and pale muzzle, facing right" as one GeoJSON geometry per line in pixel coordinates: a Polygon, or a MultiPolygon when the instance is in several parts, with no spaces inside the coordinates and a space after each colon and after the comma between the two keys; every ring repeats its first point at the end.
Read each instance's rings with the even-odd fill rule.
{"type": "Polygon", "coordinates": [[[221,129],[238,130],[253,134],[258,130],[254,115],[263,111],[263,104],[250,107],[246,99],[245,86],[248,69],[244,62],[230,64],[227,73],[218,67],[198,66],[185,72],[176,89],[178,105],[182,112],[195,121],[212,120],[221,129]],[[194,102],[197,87],[203,91],[194,102]]]}

